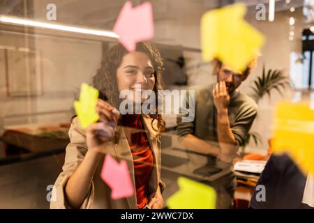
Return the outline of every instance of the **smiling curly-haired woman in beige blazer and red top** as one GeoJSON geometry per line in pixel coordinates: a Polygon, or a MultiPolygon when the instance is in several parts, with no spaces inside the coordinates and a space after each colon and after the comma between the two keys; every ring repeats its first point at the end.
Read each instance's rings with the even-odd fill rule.
{"type": "Polygon", "coordinates": [[[162,66],[158,50],[147,43],[137,44],[130,53],[120,44],[110,49],[93,77],[93,85],[100,91],[96,107],[100,120],[82,130],[73,118],[51,208],[163,208],[159,135],[165,123],[156,112],[120,115],[115,108],[121,91],[157,93],[162,66]],[[110,196],[110,188],[100,178],[103,153],[126,160],[135,189],[132,196],[110,196]]]}

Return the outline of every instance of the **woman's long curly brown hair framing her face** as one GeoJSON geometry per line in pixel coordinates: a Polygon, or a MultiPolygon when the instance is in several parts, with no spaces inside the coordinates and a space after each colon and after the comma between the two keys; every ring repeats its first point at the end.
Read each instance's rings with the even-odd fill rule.
{"type": "MultiPolygon", "coordinates": [[[[163,59],[160,56],[158,49],[150,43],[137,43],[137,52],[143,52],[149,56],[152,65],[154,66],[155,85],[154,93],[158,95],[158,90],[162,89],[161,75],[163,72],[163,59]]],[[[99,91],[99,98],[109,102],[112,106],[119,108],[121,99],[119,98],[119,89],[117,84],[117,69],[119,68],[122,58],[128,51],[123,45],[118,43],[110,48],[109,52],[103,58],[100,68],[98,68],[96,75],[92,77],[92,85],[99,91]]],[[[161,105],[156,97],[156,105],[161,105]]],[[[154,121],[157,120],[158,135],[165,131],[165,121],[160,114],[158,114],[158,106],[156,106],[155,114],[149,114],[151,118],[151,126],[154,128],[154,121]]],[[[121,118],[120,118],[121,123],[121,118]]],[[[119,123],[118,123],[119,124],[119,123]]]]}

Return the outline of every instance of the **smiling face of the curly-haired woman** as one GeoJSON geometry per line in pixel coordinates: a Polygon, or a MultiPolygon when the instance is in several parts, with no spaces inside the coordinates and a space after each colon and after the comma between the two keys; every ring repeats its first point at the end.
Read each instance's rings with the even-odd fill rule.
{"type": "Polygon", "coordinates": [[[149,56],[143,52],[130,52],[122,58],[119,68],[117,68],[117,83],[119,92],[129,90],[133,93],[135,102],[144,102],[146,98],[140,99],[137,95],[142,95],[145,90],[153,90],[155,85],[154,67],[149,56]]]}

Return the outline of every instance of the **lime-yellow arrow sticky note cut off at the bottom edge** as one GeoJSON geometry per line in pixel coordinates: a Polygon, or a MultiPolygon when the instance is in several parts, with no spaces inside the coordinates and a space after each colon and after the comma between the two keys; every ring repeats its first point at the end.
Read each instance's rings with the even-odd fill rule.
{"type": "Polygon", "coordinates": [[[167,199],[170,209],[214,209],[216,192],[213,187],[188,178],[178,178],[179,191],[167,199]]]}

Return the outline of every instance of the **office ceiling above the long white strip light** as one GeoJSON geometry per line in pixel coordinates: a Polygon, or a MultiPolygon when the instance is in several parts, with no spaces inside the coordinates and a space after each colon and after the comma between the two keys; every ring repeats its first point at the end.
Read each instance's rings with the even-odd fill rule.
{"type": "MultiPolygon", "coordinates": [[[[29,3],[33,17],[45,20],[46,6],[52,2],[57,6],[59,22],[112,29],[125,0],[0,0],[0,14],[21,16],[25,5],[29,3]]],[[[144,0],[133,0],[133,5],[142,2],[144,0]]],[[[151,0],[151,2],[154,5],[155,22],[164,22],[200,16],[202,12],[211,8],[238,2],[246,3],[250,13],[255,11],[257,3],[267,4],[269,0],[151,0]]],[[[302,5],[302,0],[276,0],[276,10],[287,10],[292,6],[302,5]],[[287,4],[288,1],[290,2],[287,4]]]]}

